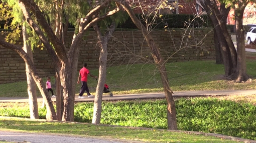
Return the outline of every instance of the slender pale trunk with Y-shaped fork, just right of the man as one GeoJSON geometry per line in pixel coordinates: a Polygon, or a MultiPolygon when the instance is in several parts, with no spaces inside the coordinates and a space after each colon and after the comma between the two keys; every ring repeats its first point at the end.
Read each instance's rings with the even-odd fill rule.
{"type": "Polygon", "coordinates": [[[102,36],[101,31],[98,25],[95,23],[93,24],[93,28],[95,29],[97,36],[98,36],[98,43],[101,48],[99,54],[99,79],[98,84],[96,87],[96,94],[94,97],[94,107],[93,107],[93,117],[92,123],[100,123],[101,118],[101,110],[102,110],[102,94],[106,79],[106,60],[107,60],[107,43],[110,36],[113,34],[115,30],[115,22],[112,22],[109,29],[102,36]]]}

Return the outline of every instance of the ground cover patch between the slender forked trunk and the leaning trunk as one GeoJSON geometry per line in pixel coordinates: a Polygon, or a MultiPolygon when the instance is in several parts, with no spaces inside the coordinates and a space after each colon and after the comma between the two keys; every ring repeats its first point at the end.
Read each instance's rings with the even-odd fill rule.
{"type": "Polygon", "coordinates": [[[163,100],[104,103],[101,122],[125,126],[166,128],[165,110],[166,103],[163,100]]]}

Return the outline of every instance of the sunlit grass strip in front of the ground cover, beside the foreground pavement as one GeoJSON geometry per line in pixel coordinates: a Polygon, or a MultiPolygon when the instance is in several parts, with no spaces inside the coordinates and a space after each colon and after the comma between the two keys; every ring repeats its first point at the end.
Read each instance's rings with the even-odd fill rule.
{"type": "Polygon", "coordinates": [[[67,134],[80,136],[98,136],[140,142],[237,142],[206,135],[204,133],[173,132],[166,129],[146,129],[111,125],[93,125],[90,123],[61,123],[30,121],[24,119],[0,118],[0,130],[42,132],[49,134],[67,134]]]}

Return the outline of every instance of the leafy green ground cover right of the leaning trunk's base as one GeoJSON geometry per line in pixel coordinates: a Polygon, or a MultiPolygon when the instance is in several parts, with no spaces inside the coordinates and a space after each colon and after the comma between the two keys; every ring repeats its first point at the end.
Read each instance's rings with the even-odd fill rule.
{"type": "Polygon", "coordinates": [[[230,100],[182,99],[177,103],[180,129],[217,132],[242,138],[256,139],[256,106],[230,100]]]}

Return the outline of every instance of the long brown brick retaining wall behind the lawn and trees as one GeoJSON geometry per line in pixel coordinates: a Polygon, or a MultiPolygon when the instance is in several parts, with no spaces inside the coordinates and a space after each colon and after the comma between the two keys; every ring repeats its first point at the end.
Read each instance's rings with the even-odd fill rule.
{"type": "MultiPolygon", "coordinates": [[[[152,32],[155,43],[161,50],[164,59],[171,61],[213,60],[214,41],[210,29],[196,29],[190,35],[184,30],[156,30],[152,32]],[[184,34],[184,35],[183,35],[184,34]],[[206,35],[202,41],[201,39],[206,35]],[[198,43],[198,44],[197,44],[198,43]]],[[[66,36],[66,47],[71,44],[73,31],[66,36]]],[[[3,38],[3,37],[0,37],[3,38]]],[[[21,42],[22,43],[22,42],[21,42]]],[[[99,46],[94,31],[86,33],[81,45],[78,69],[87,62],[90,68],[98,68],[99,46]]],[[[54,75],[54,65],[48,52],[34,49],[34,63],[40,76],[54,75]]],[[[153,60],[141,31],[115,31],[108,43],[108,66],[146,62],[153,60]]],[[[0,83],[26,80],[25,62],[16,52],[0,46],[0,83]]]]}

